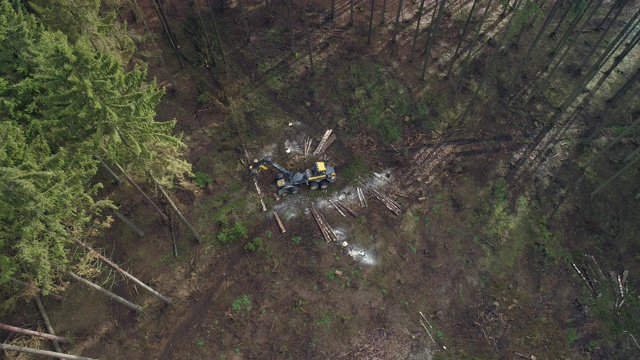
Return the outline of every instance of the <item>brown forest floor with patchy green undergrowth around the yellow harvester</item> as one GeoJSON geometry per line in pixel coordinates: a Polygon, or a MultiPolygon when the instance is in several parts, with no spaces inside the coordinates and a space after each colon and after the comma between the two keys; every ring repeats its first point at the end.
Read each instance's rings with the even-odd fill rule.
{"type": "MultiPolygon", "coordinates": [[[[312,23],[322,20],[329,3],[312,2],[312,23]]],[[[93,243],[174,304],[164,306],[110,277],[112,291],[145,306],[136,316],[71,283],[65,302],[45,299],[58,333],[73,340],[68,353],[101,359],[640,356],[633,338],[640,333],[614,336],[630,328],[637,296],[630,293],[626,304],[612,309],[621,299],[609,277],[609,271],[617,276],[629,269],[629,289],[640,280],[640,188],[629,181],[618,191],[588,196],[619,167],[622,152],[608,155],[590,176],[580,170],[595,151],[580,148],[579,140],[593,128],[590,114],[601,108],[600,98],[586,105],[591,113],[549,126],[545,119],[558,105],[553,93],[508,103],[498,90],[487,90],[470,119],[456,122],[471,96],[469,82],[487,71],[476,60],[470,71],[456,69],[443,79],[470,4],[452,6],[427,80],[420,81],[422,60],[408,61],[419,2],[401,14],[393,50],[389,34],[397,2],[389,1],[387,23],[376,26],[369,47],[368,6],[357,3],[353,27],[347,26],[349,2],[340,1],[334,22],[313,32],[313,78],[302,30],[296,38],[300,54],[289,54],[284,3],[271,3],[267,16],[264,2],[245,1],[249,44],[242,41],[237,6],[215,9],[224,37],[236,40],[226,51],[232,70],[223,74],[221,64],[213,76],[203,66],[176,70],[175,88],[158,109],[161,120],[178,119],[188,145],[199,186],[176,190],[175,197],[203,240],[198,244],[177,218],[161,223],[132,188],[107,186],[104,195],[147,235],[138,238],[116,221],[93,243]],[[394,120],[371,120],[382,115],[394,120]],[[303,156],[305,139],[313,138],[315,147],[329,128],[337,141],[326,153],[303,156]],[[304,189],[276,201],[275,172],[262,172],[263,212],[247,160],[266,155],[296,171],[323,160],[336,167],[338,181],[325,191],[304,189]],[[400,214],[370,192],[361,206],[356,188],[367,186],[392,197],[400,214]],[[358,216],[341,215],[331,199],[358,216]],[[324,240],[311,207],[346,247],[324,240]],[[221,244],[243,230],[246,236],[221,244]],[[572,264],[593,270],[589,281],[596,283],[597,297],[572,264]]],[[[182,25],[196,22],[193,13],[186,2],[167,6],[177,28],[184,26],[178,39],[185,58],[197,63],[199,53],[189,50],[197,40],[189,42],[182,25]]],[[[144,9],[160,34],[152,8],[144,9]]],[[[497,31],[504,22],[495,15],[488,29],[497,31]]],[[[486,43],[491,33],[483,33],[486,43]]],[[[529,40],[534,35],[527,34],[529,40]]],[[[495,61],[513,68],[525,49],[495,61]]],[[[169,51],[169,67],[179,69],[169,51]]],[[[157,57],[144,60],[153,76],[168,80],[157,57]]],[[[619,77],[623,82],[624,74],[619,77]]],[[[504,84],[497,79],[499,89],[504,84]]],[[[605,129],[598,144],[613,138],[612,131],[605,129]]],[[[624,146],[638,140],[636,135],[624,146]]],[[[35,312],[21,316],[37,321],[35,312]]]]}

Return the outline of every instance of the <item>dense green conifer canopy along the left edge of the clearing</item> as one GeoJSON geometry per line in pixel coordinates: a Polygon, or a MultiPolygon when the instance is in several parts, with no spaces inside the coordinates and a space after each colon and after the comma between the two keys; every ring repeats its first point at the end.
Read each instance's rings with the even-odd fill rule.
{"type": "Polygon", "coordinates": [[[111,206],[94,200],[94,155],[165,184],[190,172],[175,120],[155,120],[164,90],[77,36],[0,4],[0,284],[21,273],[52,289],[73,239],[111,206]]]}

